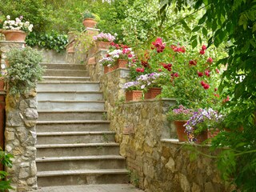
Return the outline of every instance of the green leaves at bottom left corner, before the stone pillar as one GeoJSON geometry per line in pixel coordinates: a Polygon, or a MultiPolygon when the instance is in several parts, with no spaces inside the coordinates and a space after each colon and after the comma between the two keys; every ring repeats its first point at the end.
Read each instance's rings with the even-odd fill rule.
{"type": "MultiPolygon", "coordinates": [[[[6,154],[5,151],[3,151],[0,148],[0,162],[3,166],[12,167],[12,162],[10,158],[14,158],[11,154],[6,154]]],[[[10,186],[10,179],[6,180],[7,173],[6,171],[1,170],[0,171],[0,191],[4,192],[7,190],[11,190],[12,187],[10,186]]]]}

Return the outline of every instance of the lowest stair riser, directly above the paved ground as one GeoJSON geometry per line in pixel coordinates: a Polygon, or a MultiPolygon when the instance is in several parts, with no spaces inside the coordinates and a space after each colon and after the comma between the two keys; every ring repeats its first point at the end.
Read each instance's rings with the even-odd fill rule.
{"type": "Polygon", "coordinates": [[[38,177],[38,186],[68,186],[85,184],[128,183],[128,174],[82,174],[38,177]]]}

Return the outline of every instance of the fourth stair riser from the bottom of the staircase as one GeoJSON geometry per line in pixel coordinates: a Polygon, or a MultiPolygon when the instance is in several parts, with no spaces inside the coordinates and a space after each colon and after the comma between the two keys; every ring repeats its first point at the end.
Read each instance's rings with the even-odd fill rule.
{"type": "Polygon", "coordinates": [[[38,135],[37,144],[76,144],[114,142],[114,134],[86,134],[86,135],[38,135]]]}

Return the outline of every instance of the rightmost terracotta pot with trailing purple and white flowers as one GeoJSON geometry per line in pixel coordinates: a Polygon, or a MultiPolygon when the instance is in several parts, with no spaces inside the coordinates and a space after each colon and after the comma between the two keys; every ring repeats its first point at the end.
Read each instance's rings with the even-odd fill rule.
{"type": "Polygon", "coordinates": [[[223,115],[219,114],[217,110],[198,109],[193,116],[186,122],[186,133],[194,134],[190,141],[201,143],[205,141],[209,135],[209,131],[213,134],[218,134],[219,129],[222,128],[223,115]]]}

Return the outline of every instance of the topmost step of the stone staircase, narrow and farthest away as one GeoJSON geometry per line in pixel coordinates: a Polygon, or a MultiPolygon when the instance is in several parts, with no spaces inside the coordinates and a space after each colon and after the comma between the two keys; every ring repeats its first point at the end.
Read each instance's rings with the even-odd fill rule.
{"type": "Polygon", "coordinates": [[[49,62],[41,62],[41,66],[46,66],[46,69],[54,69],[54,70],[86,70],[86,65],[77,65],[70,63],[49,63],[49,62]]]}

